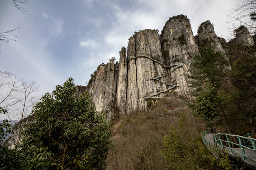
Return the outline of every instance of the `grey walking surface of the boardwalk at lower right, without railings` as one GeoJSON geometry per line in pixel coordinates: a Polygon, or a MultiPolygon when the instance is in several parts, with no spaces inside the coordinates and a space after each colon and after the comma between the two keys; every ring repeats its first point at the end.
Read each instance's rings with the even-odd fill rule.
{"type": "MultiPolygon", "coordinates": [[[[213,136],[212,136],[211,133],[206,134],[206,135],[204,136],[204,139],[205,139],[208,143],[210,143],[211,145],[214,146],[214,138],[213,138],[213,136]]],[[[219,146],[219,149],[222,150],[222,147],[219,146]]],[[[229,153],[230,155],[232,155],[232,156],[238,156],[238,157],[241,158],[241,160],[244,160],[244,157],[243,157],[243,155],[241,154],[241,148],[232,148],[232,149],[234,149],[235,151],[238,151],[238,152],[240,152],[240,153],[236,153],[236,152],[234,152],[234,151],[233,151],[233,153],[231,153],[231,150],[230,150],[229,148],[224,148],[224,149],[225,149],[225,151],[226,151],[227,153],[229,153]]],[[[249,157],[251,157],[251,158],[253,158],[253,159],[256,160],[256,152],[255,152],[255,151],[252,151],[252,150],[249,150],[249,149],[246,149],[246,148],[244,149],[244,151],[245,151],[245,154],[246,154],[247,156],[249,156],[249,157]]],[[[247,164],[253,166],[254,168],[256,168],[256,161],[253,161],[253,160],[247,158],[247,160],[246,160],[245,162],[246,162],[247,164]]]]}

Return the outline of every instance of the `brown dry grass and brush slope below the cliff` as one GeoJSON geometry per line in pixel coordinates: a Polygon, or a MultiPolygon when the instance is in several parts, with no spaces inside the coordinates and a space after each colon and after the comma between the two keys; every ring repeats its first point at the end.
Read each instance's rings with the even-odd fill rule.
{"type": "Polygon", "coordinates": [[[198,144],[201,144],[200,133],[203,130],[203,123],[192,117],[190,110],[167,114],[178,119],[159,116],[166,112],[166,108],[172,110],[184,106],[183,102],[174,99],[162,100],[157,102],[150,112],[137,112],[115,120],[112,127],[114,148],[107,158],[107,170],[169,169],[161,152],[164,146],[163,136],[168,134],[170,125],[175,128],[178,135],[182,136],[183,143],[188,146],[189,152],[196,160],[198,144]]]}

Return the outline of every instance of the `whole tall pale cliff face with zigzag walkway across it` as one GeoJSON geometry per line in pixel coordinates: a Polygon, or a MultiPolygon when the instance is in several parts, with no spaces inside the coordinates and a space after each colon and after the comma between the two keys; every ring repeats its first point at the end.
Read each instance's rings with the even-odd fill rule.
{"type": "MultiPolygon", "coordinates": [[[[240,29],[237,32],[238,39],[245,37],[240,29]]],[[[216,51],[225,52],[210,21],[199,27],[197,41],[204,40],[216,51]]],[[[109,117],[150,110],[155,100],[172,98],[174,92],[187,94],[185,74],[198,53],[189,19],[183,15],[170,17],[160,36],[151,29],[135,32],[128,40],[127,51],[125,47],[119,51],[119,63],[114,59],[102,63],[86,87],[77,87],[77,93],[88,91],[96,109],[106,110],[109,117]]]]}

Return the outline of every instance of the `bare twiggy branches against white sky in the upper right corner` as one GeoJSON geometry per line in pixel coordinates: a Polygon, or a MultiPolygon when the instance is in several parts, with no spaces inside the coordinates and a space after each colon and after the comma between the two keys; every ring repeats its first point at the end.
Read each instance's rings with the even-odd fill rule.
{"type": "Polygon", "coordinates": [[[232,30],[238,28],[238,26],[246,26],[250,34],[256,33],[256,0],[245,0],[242,5],[237,5],[236,8],[231,9],[228,17],[232,20],[229,23],[235,21],[239,22],[239,25],[233,24],[232,30]]]}

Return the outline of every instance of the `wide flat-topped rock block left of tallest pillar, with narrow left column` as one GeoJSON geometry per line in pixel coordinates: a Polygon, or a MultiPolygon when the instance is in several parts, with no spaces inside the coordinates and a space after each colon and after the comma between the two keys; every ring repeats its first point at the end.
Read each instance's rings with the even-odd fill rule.
{"type": "Polygon", "coordinates": [[[129,38],[128,113],[135,110],[146,110],[145,99],[166,90],[165,84],[153,80],[157,76],[164,75],[162,65],[163,57],[157,31],[147,29],[129,38]]]}

